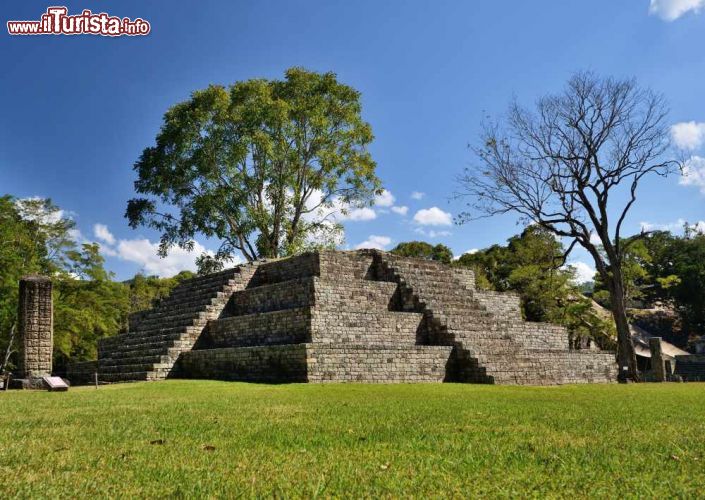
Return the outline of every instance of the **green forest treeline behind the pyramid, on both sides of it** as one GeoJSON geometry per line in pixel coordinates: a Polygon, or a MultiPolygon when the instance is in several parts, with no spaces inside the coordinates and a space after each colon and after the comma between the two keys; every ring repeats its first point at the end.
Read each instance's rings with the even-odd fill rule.
{"type": "MultiPolygon", "coordinates": [[[[115,281],[104,267],[98,243],[77,242],[75,223],[47,199],[0,197],[0,355],[8,348],[17,319],[18,281],[27,274],[54,280],[54,362],[95,359],[97,341],[127,328],[127,316],[151,307],[179,281],[137,274],[115,281]]],[[[575,269],[563,262],[565,248],[549,232],[529,226],[505,245],[454,257],[443,244],[410,241],[397,245],[399,255],[472,268],[479,287],[514,291],[530,321],[566,326],[576,347],[594,340],[614,347],[614,325],[593,299],[609,307],[609,292],[598,279],[578,284],[575,269]]],[[[661,307],[678,318],[676,341],[705,329],[705,236],[685,226],[683,235],[657,231],[630,246],[624,265],[630,304],[661,307]]],[[[16,346],[12,346],[13,350],[16,346]]],[[[15,360],[11,356],[12,361],[15,360]]],[[[11,368],[10,366],[10,368],[11,368]]]]}

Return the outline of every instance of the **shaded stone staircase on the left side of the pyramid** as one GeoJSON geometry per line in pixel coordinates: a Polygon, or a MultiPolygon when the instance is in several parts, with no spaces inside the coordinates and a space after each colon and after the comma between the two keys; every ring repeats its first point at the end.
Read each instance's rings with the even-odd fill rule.
{"type": "Polygon", "coordinates": [[[127,333],[101,339],[98,372],[103,382],[161,380],[174,373],[209,320],[220,316],[233,292],[245,287],[253,266],[185,280],[156,307],[133,316],[127,333]]]}

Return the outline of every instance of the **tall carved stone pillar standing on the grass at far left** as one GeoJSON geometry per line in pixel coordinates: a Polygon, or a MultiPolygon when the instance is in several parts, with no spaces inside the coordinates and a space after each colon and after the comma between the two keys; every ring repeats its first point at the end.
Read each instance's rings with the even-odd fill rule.
{"type": "Polygon", "coordinates": [[[18,330],[21,340],[19,375],[51,375],[54,346],[54,310],[51,280],[25,276],[20,280],[18,330]]]}

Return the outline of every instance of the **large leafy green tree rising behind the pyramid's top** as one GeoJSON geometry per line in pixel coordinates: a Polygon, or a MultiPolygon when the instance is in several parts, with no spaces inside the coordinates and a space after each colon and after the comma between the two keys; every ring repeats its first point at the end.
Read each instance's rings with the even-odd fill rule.
{"type": "Polygon", "coordinates": [[[162,254],[191,248],[197,233],[221,240],[219,260],[330,245],[341,233],[331,213],[380,190],[372,139],[359,92],[333,73],[211,85],[165,114],[134,167],[146,196],[126,217],[161,232],[162,254]]]}

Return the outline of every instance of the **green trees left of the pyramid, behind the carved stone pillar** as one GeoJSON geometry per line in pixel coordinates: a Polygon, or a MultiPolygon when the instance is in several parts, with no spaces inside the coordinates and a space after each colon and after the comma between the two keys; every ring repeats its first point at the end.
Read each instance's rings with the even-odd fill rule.
{"type": "MultiPolygon", "coordinates": [[[[54,366],[95,359],[97,341],[127,326],[127,315],[151,307],[184,278],[135,276],[113,281],[95,243],[79,244],[74,222],[50,200],[0,198],[0,363],[17,320],[18,281],[28,274],[51,276],[54,283],[54,366]]],[[[15,338],[17,341],[17,338],[15,338]]],[[[11,346],[16,350],[16,344],[11,346]]],[[[10,358],[7,368],[12,368],[10,358]]]]}

